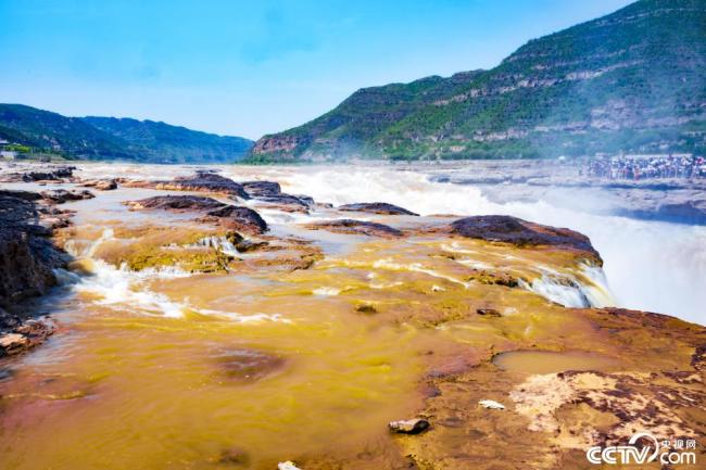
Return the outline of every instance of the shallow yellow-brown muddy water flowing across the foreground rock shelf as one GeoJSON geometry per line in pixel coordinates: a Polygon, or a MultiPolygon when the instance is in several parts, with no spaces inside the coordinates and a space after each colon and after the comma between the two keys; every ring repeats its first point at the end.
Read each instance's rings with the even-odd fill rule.
{"type": "MultiPolygon", "coordinates": [[[[427,356],[576,327],[529,290],[467,280],[479,267],[528,278],[537,265],[569,269],[560,253],[315,231],[324,258],[306,270],[140,274],[104,263],[100,245],[119,229],[191,224],[121,204],[152,194],[121,189],[72,205],[67,247],[84,259],[80,276],[66,275],[42,305],[62,330],[0,381],[3,470],[264,470],[317,456],[395,468],[387,423],[420,409],[427,356]],[[486,304],[508,316],[501,329],[464,320],[486,304]],[[530,331],[540,313],[546,330],[530,331]]],[[[139,243],[130,237],[118,242],[139,243]]]]}

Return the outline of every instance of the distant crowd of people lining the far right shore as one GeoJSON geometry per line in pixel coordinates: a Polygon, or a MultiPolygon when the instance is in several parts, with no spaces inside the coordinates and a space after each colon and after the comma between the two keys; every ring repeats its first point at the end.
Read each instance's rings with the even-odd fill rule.
{"type": "Polygon", "coordinates": [[[695,155],[598,156],[580,175],[607,179],[706,178],[706,158],[695,155]]]}

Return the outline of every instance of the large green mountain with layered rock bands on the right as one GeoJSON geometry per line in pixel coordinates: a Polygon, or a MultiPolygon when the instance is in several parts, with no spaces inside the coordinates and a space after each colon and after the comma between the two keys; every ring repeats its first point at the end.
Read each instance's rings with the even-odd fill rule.
{"type": "Polygon", "coordinates": [[[641,0],[490,71],[364,88],[252,162],[706,151],[706,1],[641,0]]]}

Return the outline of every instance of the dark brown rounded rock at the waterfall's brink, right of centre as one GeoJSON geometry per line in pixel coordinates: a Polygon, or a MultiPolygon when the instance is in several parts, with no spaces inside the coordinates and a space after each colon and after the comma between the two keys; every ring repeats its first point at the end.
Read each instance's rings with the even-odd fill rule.
{"type": "Polygon", "coordinates": [[[462,218],[451,224],[451,231],[466,238],[510,243],[519,247],[549,245],[577,250],[590,254],[596,261],[601,259],[591,245],[591,240],[584,234],[506,215],[462,218]]]}

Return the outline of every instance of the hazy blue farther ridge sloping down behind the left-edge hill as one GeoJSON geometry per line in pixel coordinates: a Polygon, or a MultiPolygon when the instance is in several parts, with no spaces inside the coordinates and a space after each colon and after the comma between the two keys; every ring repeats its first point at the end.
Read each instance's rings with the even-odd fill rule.
{"type": "Polygon", "coordinates": [[[234,162],[253,145],[242,137],[216,136],[153,120],[88,116],[84,122],[127,142],[130,152],[156,162],[234,162]]]}

